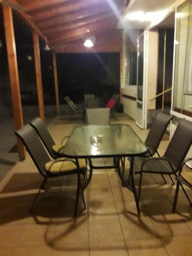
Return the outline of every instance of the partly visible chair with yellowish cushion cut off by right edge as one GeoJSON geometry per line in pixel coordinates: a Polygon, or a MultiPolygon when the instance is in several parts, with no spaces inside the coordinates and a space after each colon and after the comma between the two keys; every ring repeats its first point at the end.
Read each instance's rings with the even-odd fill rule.
{"type": "Polygon", "coordinates": [[[188,188],[192,189],[192,172],[189,171],[189,169],[192,170],[191,167],[188,167],[188,171],[183,171],[183,167],[184,165],[189,162],[189,161],[192,161],[192,158],[188,158],[188,159],[185,159],[179,169],[179,174],[178,174],[178,177],[176,178],[177,180],[177,187],[176,187],[176,191],[175,191],[175,198],[174,198],[174,203],[173,203],[173,212],[175,212],[176,210],[176,205],[177,205],[177,199],[178,199],[178,194],[179,194],[179,186],[181,186],[181,188],[183,189],[183,192],[185,193],[189,203],[190,203],[190,206],[192,205],[191,203],[191,200],[190,198],[188,197],[184,187],[183,187],[183,184],[185,186],[187,186],[188,188]]]}

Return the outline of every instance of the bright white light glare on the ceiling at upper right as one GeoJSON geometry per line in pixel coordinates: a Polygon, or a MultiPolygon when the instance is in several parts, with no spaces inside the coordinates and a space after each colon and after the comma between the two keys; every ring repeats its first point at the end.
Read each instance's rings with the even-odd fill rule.
{"type": "Polygon", "coordinates": [[[125,15],[128,20],[139,20],[143,21],[153,21],[159,19],[163,15],[163,12],[133,12],[125,15]]]}

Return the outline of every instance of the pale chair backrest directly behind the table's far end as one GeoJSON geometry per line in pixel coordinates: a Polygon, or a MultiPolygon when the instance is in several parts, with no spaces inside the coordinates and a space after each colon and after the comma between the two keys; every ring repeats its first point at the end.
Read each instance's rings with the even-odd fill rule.
{"type": "Polygon", "coordinates": [[[108,125],[110,124],[109,108],[89,108],[86,110],[87,124],[108,125]]]}

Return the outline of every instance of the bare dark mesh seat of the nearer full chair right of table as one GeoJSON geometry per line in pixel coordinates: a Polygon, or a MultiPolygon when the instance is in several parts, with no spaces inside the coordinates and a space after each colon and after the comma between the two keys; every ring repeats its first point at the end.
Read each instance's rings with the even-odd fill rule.
{"type": "MultiPolygon", "coordinates": [[[[163,159],[155,160],[153,158],[147,161],[143,166],[143,172],[149,172],[149,173],[173,173],[173,170],[169,163],[163,159]]],[[[146,157],[135,157],[134,159],[134,172],[138,173],[141,171],[141,165],[143,162],[147,160],[146,157]]]]}

